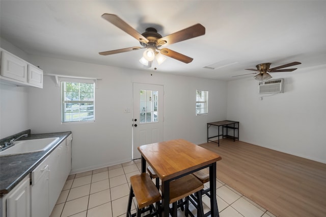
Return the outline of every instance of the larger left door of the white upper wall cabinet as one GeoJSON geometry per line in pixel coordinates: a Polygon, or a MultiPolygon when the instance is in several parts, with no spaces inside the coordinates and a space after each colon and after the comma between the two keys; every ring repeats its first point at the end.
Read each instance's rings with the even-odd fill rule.
{"type": "Polygon", "coordinates": [[[7,52],[1,53],[1,75],[27,82],[27,63],[7,52]]]}

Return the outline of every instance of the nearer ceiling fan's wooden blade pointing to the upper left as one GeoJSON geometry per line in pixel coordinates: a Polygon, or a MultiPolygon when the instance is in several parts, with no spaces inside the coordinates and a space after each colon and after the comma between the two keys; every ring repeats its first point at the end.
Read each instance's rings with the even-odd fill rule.
{"type": "Polygon", "coordinates": [[[103,14],[102,17],[104,19],[106,19],[107,21],[111,22],[112,24],[114,24],[115,26],[117,26],[120,30],[128,33],[129,35],[131,35],[133,38],[144,42],[144,43],[148,43],[147,38],[145,38],[144,36],[142,36],[142,34],[140,34],[139,32],[137,32],[135,29],[133,29],[128,23],[126,23],[125,21],[123,21],[120,17],[118,17],[115,14],[103,14]]]}

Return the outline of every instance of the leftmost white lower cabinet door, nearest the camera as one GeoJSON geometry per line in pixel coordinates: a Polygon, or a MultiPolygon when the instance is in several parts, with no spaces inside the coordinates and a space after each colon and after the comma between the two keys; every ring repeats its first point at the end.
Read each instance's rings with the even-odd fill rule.
{"type": "Polygon", "coordinates": [[[22,181],[18,188],[7,198],[7,216],[30,216],[30,178],[22,181]]]}

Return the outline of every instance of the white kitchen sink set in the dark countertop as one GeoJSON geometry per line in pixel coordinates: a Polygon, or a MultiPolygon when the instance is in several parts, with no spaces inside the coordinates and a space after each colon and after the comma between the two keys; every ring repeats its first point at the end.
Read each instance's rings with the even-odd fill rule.
{"type": "Polygon", "coordinates": [[[0,151],[0,156],[45,151],[58,140],[59,137],[15,141],[14,146],[9,147],[6,150],[0,151]]]}

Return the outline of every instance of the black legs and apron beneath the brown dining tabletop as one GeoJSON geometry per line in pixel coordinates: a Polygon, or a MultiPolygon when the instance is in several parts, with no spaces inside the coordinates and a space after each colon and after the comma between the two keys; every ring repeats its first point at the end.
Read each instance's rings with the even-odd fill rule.
{"type": "MultiPolygon", "coordinates": [[[[170,214],[170,203],[169,200],[166,200],[166,198],[170,198],[170,181],[173,181],[177,178],[180,178],[182,176],[194,173],[196,171],[202,170],[204,168],[209,167],[209,187],[210,187],[210,195],[216,195],[216,162],[213,162],[212,164],[206,165],[204,167],[198,168],[193,171],[189,171],[187,173],[184,173],[180,176],[174,177],[172,179],[162,181],[162,216],[169,217],[170,214]]],[[[142,173],[146,173],[146,159],[142,155],[142,173]]],[[[210,207],[211,207],[211,213],[214,213],[213,217],[219,217],[219,208],[216,201],[216,197],[211,197],[210,199],[210,207]]],[[[174,217],[174,216],[173,216],[174,217]]]]}

